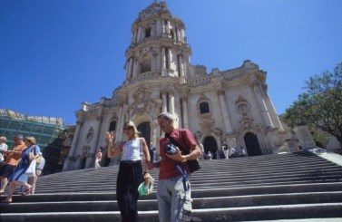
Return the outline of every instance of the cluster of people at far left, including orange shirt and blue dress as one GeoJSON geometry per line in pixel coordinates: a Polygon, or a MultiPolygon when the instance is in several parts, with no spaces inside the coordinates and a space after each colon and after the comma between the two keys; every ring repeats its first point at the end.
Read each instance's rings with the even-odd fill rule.
{"type": "Polygon", "coordinates": [[[16,186],[24,188],[22,195],[34,194],[37,177],[42,174],[45,159],[34,137],[25,137],[22,134],[15,135],[15,144],[12,150],[8,150],[5,137],[1,137],[1,156],[2,164],[0,169],[1,188],[0,194],[5,193],[5,187],[9,184],[8,196],[3,200],[4,203],[12,203],[12,197],[16,186]],[[3,149],[5,147],[5,149],[3,149]],[[35,164],[34,172],[31,175],[25,174],[33,159],[30,153],[33,152],[33,159],[40,159],[39,164],[35,164]]]}

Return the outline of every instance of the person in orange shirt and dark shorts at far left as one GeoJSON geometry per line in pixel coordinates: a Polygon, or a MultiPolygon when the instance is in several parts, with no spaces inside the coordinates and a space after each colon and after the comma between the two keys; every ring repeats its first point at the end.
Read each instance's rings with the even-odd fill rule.
{"type": "Polygon", "coordinates": [[[7,150],[5,154],[5,164],[0,170],[1,188],[0,193],[5,192],[5,187],[8,183],[8,178],[12,176],[16,165],[18,164],[22,151],[26,148],[24,144],[24,136],[22,134],[17,134],[15,136],[15,146],[13,150],[7,150]]]}

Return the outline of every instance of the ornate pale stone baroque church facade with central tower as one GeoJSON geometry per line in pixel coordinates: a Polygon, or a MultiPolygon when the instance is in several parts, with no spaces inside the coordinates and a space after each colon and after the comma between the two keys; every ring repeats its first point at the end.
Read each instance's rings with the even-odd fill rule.
{"type": "MultiPolygon", "coordinates": [[[[125,79],[112,98],[82,103],[64,170],[93,168],[99,148],[106,152],[106,132],[124,140],[123,124],[133,121],[148,144],[163,137],[157,116],[173,113],[178,128],[191,130],[205,153],[242,148],[249,156],[271,154],[288,137],[267,92],[267,73],[244,61],[227,71],[192,65],[185,25],[166,3],[153,2],[132,24],[125,53],[125,79]]],[[[123,74],[123,73],[122,73],[123,74]]],[[[117,160],[117,159],[116,159],[117,160]]],[[[110,159],[107,165],[114,164],[110,159]]]]}

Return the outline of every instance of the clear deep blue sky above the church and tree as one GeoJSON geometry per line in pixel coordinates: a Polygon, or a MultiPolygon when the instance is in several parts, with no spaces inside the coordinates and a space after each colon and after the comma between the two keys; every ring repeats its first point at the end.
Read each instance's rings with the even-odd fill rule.
{"type": "MultiPolygon", "coordinates": [[[[152,0],[0,0],[0,109],[64,118],[122,85],[131,26],[152,0]]],[[[267,72],[278,114],[310,76],[342,62],[340,0],[170,0],[191,64],[250,60],[267,72]]]]}

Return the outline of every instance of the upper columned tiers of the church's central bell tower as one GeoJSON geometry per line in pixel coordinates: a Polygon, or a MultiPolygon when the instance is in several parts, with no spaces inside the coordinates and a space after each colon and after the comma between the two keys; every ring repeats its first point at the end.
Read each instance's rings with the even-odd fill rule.
{"type": "Polygon", "coordinates": [[[168,76],[179,78],[179,83],[186,82],[191,48],[185,37],[185,25],[178,17],[172,17],[165,2],[153,2],[142,10],[131,30],[132,41],[126,51],[126,85],[148,76],[168,76]]]}

